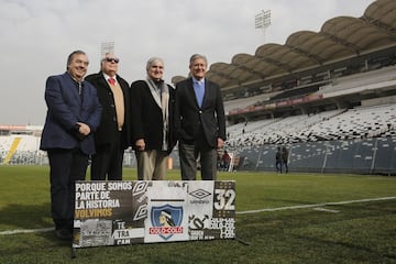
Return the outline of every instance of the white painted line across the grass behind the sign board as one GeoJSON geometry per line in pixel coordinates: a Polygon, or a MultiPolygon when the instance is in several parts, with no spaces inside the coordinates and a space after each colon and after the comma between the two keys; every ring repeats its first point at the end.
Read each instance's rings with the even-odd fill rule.
{"type": "MultiPolygon", "coordinates": [[[[394,199],[396,199],[396,196],[372,198],[372,199],[361,199],[361,200],[323,202],[323,204],[315,204],[315,205],[301,205],[301,206],[292,206],[292,207],[278,207],[278,208],[258,209],[258,210],[250,210],[250,211],[237,211],[235,213],[237,215],[248,215],[248,213],[257,213],[257,212],[295,210],[295,209],[304,209],[304,208],[316,208],[316,207],[324,207],[324,206],[338,206],[338,205],[349,205],[349,204],[356,204],[356,202],[369,202],[369,201],[381,201],[381,200],[394,200],[394,199]]],[[[50,231],[54,231],[54,228],[16,229],[16,230],[10,230],[10,231],[2,231],[2,232],[0,232],[0,235],[21,234],[21,233],[41,233],[41,232],[50,232],[50,231]]]]}

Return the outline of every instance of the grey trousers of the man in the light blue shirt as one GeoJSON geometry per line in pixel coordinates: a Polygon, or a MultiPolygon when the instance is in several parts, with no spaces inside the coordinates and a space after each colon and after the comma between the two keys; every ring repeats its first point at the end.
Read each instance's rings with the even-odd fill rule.
{"type": "Polygon", "coordinates": [[[217,150],[207,144],[186,144],[179,142],[180,170],[183,180],[197,179],[198,158],[200,162],[201,178],[216,180],[217,150]]]}

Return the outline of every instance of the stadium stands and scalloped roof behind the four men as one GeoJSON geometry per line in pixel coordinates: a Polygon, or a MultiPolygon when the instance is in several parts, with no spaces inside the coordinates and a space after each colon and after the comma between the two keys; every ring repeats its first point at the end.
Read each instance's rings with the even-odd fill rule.
{"type": "MultiPolygon", "coordinates": [[[[274,170],[286,146],[292,172],[396,174],[396,1],[215,63],[207,78],[222,89],[235,169],[274,170]]],[[[31,129],[0,127],[1,164],[46,163],[31,129]]]]}

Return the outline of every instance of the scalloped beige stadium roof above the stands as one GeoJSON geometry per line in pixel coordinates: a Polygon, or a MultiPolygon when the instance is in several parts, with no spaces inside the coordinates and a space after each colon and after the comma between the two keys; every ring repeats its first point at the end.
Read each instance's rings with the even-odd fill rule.
{"type": "MultiPolygon", "coordinates": [[[[264,44],[254,55],[234,55],[231,64],[215,63],[207,78],[228,90],[395,45],[396,1],[376,0],[362,18],[337,16],[319,32],[295,32],[284,45],[264,44]]],[[[172,80],[175,84],[183,78],[172,80]]]]}

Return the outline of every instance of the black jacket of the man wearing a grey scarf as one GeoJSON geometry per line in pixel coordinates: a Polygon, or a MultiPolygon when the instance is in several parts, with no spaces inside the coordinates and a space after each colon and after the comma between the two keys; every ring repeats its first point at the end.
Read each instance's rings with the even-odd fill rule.
{"type": "MultiPolygon", "coordinates": [[[[176,144],[174,138],[174,109],[175,88],[168,85],[169,105],[168,117],[169,128],[167,134],[168,153],[176,144]]],[[[135,150],[135,141],[144,139],[145,150],[161,150],[163,144],[163,113],[155,102],[153,95],[144,80],[136,80],[131,85],[131,146],[135,150]]]]}

